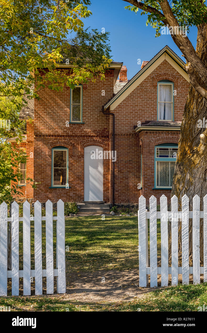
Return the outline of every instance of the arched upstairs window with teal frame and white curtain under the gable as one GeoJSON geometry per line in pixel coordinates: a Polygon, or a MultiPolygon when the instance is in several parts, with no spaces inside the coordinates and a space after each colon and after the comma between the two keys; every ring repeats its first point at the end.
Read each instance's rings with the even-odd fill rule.
{"type": "Polygon", "coordinates": [[[173,82],[160,81],[157,90],[157,120],[173,121],[173,82]]]}

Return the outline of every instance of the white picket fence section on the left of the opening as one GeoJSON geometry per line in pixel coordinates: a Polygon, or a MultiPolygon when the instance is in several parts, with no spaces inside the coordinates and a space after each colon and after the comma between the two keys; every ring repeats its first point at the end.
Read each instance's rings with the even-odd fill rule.
{"type": "Polygon", "coordinates": [[[34,217],[30,216],[30,203],[23,203],[23,217],[19,205],[11,204],[11,217],[7,217],[7,204],[0,205],[0,296],[7,296],[7,278],[12,278],[12,296],[19,296],[19,278],[23,277],[23,294],[31,295],[31,277],[35,277],[35,295],[43,293],[43,276],[47,277],[47,294],[66,292],[65,278],[65,219],[64,202],[57,202],[57,216],[52,216],[52,202],[46,202],[46,216],[42,217],[42,204],[34,203],[34,217]],[[53,221],[56,220],[56,269],[53,269],[53,221]],[[7,229],[11,221],[12,270],[7,270],[7,229]],[[23,221],[23,270],[19,270],[19,221],[23,221]],[[34,221],[35,269],[31,270],[30,221],[34,221]],[[46,221],[46,269],[42,269],[42,221],[46,221]]]}

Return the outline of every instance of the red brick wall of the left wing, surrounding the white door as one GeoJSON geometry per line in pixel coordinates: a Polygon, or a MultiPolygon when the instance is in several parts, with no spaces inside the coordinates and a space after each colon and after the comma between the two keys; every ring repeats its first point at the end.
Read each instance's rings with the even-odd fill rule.
{"type": "MultiPolygon", "coordinates": [[[[110,117],[102,114],[102,106],[113,96],[113,70],[106,73],[106,80],[96,79],[83,85],[83,122],[69,124],[70,89],[62,92],[41,90],[40,101],[35,100],[34,114],[34,177],[41,181],[34,190],[34,200],[82,202],[84,200],[84,147],[100,146],[110,150],[110,117]],[[105,96],[103,96],[103,91],[105,96]],[[52,147],[68,148],[68,182],[71,188],[51,186],[52,147]]],[[[109,202],[110,161],[103,161],[103,200],[109,202]]]]}

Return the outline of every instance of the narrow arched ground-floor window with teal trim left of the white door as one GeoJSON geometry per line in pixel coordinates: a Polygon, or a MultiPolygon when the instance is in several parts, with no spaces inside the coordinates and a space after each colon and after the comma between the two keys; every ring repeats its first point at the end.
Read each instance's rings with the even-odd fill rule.
{"type": "Polygon", "coordinates": [[[52,148],[52,187],[65,187],[68,183],[68,149],[52,148]]]}

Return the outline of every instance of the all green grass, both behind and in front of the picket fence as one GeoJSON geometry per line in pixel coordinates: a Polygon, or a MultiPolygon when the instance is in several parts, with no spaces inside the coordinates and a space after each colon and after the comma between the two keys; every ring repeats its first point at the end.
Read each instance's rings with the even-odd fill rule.
{"type": "MultiPolygon", "coordinates": [[[[54,226],[54,268],[56,226],[54,226]]],[[[149,230],[149,227],[148,227],[149,230]]],[[[42,228],[43,269],[46,268],[45,223],[42,228]]],[[[157,255],[160,257],[160,222],[157,223],[157,255]]],[[[137,217],[87,216],[65,219],[66,277],[97,270],[138,269],[137,217]]],[[[23,269],[20,222],[20,269],[23,269]]],[[[34,222],[31,223],[31,269],[34,269],[34,222]]],[[[46,279],[46,278],[44,278],[46,279]]],[[[22,280],[22,279],[20,279],[22,280]]],[[[11,282],[9,282],[11,284],[11,282]]],[[[44,282],[45,283],[45,282],[44,282]]],[[[22,285],[22,281],[20,282],[22,285]]],[[[31,284],[33,291],[35,284],[31,284]]],[[[67,295],[0,297],[0,306],[11,311],[198,311],[207,304],[207,284],[158,288],[131,302],[79,302],[67,295]]]]}

